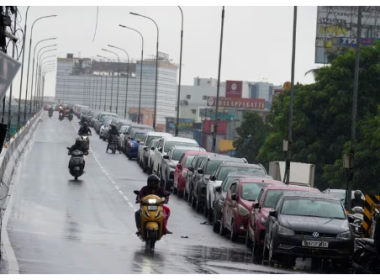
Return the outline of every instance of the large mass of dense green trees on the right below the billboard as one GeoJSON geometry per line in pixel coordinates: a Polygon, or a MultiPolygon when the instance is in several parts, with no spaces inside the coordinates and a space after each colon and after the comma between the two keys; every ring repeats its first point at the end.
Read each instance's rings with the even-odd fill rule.
{"type": "MultiPolygon", "coordinates": [[[[315,164],[316,185],[321,189],[343,188],[346,185],[342,156],[351,137],[354,68],[355,51],[349,50],[338,56],[330,67],[320,68],[315,84],[295,87],[292,160],[315,164]]],[[[374,135],[366,131],[374,125],[368,122],[378,113],[379,89],[380,44],[377,43],[375,47],[361,49],[358,160],[361,157],[368,158],[371,154],[367,143],[370,140],[367,138],[374,135]]],[[[264,142],[258,156],[258,160],[264,164],[285,159],[282,140],[287,138],[289,102],[289,92],[284,92],[273,103],[269,116],[273,132],[264,142]]],[[[369,167],[368,162],[362,163],[369,167]]],[[[376,173],[373,170],[371,172],[376,173]]],[[[354,187],[365,189],[365,183],[360,179],[363,178],[358,175],[354,187]]]]}

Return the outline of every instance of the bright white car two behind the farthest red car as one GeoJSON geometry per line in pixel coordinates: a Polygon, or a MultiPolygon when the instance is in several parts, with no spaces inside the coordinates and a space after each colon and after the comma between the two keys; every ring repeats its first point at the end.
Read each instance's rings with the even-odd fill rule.
{"type": "Polygon", "coordinates": [[[184,147],[197,147],[199,144],[193,139],[181,138],[181,137],[168,137],[162,138],[157,143],[157,148],[153,155],[153,173],[161,176],[161,167],[164,161],[164,156],[170,151],[174,146],[184,146],[184,147]]]}

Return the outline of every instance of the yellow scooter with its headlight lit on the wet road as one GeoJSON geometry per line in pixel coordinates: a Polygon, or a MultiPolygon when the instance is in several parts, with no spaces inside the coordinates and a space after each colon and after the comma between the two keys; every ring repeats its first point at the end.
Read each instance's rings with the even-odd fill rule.
{"type": "MultiPolygon", "coordinates": [[[[137,196],[140,195],[139,191],[134,191],[137,196]]],[[[146,251],[154,251],[156,242],[160,241],[164,235],[164,212],[163,205],[166,203],[166,197],[171,193],[165,195],[164,198],[156,195],[148,195],[144,197],[140,203],[141,208],[141,231],[139,238],[145,242],[146,251]]]]}

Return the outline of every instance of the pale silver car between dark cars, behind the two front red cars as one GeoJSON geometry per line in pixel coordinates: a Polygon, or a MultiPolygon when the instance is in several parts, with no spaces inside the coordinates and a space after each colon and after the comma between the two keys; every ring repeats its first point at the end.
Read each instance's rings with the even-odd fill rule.
{"type": "Polygon", "coordinates": [[[214,199],[215,199],[215,188],[220,187],[229,173],[241,172],[241,173],[252,173],[260,174],[261,176],[267,176],[268,173],[262,165],[258,164],[246,164],[238,162],[224,162],[216,170],[215,174],[210,177],[210,181],[207,184],[207,195],[206,195],[206,205],[205,205],[205,217],[208,218],[209,222],[213,220],[214,214],[214,199]]]}

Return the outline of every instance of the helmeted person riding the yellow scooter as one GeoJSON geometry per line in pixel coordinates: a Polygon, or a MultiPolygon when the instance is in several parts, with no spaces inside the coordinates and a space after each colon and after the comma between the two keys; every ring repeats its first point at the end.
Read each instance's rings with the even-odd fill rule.
{"type": "MultiPolygon", "coordinates": [[[[140,195],[137,197],[137,201],[140,202],[144,197],[148,195],[157,195],[159,197],[163,197],[166,194],[165,189],[160,188],[161,180],[157,175],[151,175],[148,178],[148,184],[146,187],[143,187],[140,190],[140,195]]],[[[171,231],[168,230],[168,220],[170,218],[170,209],[169,207],[163,206],[163,212],[164,212],[164,234],[173,234],[171,231]]],[[[141,210],[138,210],[135,213],[136,218],[136,227],[137,227],[137,235],[140,235],[141,231],[141,210]]]]}

